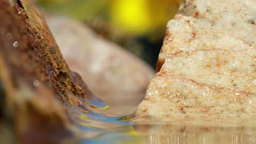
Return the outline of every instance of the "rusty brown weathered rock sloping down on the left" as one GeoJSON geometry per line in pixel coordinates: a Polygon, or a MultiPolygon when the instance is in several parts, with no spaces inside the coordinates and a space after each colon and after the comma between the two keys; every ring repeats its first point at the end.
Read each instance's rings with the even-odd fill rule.
{"type": "Polygon", "coordinates": [[[69,70],[33,5],[1,0],[0,17],[1,142],[73,139],[66,108],[83,104],[91,98],[90,91],[69,70]]]}

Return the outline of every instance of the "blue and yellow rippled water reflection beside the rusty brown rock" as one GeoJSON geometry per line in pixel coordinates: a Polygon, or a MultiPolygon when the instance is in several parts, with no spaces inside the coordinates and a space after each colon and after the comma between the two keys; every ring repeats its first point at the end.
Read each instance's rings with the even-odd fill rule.
{"type": "Polygon", "coordinates": [[[84,105],[73,106],[68,110],[68,116],[80,134],[80,143],[136,143],[144,139],[133,128],[129,115],[108,117],[95,110],[109,109],[96,97],[84,105]],[[91,133],[94,136],[86,137],[91,133]]]}

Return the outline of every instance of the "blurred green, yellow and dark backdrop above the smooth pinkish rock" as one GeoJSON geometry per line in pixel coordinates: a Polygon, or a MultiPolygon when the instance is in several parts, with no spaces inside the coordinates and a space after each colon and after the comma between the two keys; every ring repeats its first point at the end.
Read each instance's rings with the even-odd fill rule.
{"type": "Polygon", "coordinates": [[[33,0],[43,13],[83,22],[146,61],[153,69],[168,20],[182,0],[33,0]]]}

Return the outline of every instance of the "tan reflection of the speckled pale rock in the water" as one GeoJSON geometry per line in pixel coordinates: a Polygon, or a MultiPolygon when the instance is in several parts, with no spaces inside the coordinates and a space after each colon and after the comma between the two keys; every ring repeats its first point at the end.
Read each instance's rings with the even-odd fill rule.
{"type": "Polygon", "coordinates": [[[201,127],[172,124],[138,125],[137,130],[146,135],[146,143],[255,143],[255,128],[251,127],[201,127]]]}

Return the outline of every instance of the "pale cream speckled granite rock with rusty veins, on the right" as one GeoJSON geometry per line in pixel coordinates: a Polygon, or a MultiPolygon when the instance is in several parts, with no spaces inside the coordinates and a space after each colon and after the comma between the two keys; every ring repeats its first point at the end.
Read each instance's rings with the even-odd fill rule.
{"type": "Polygon", "coordinates": [[[135,119],[256,117],[255,8],[253,0],[184,1],[135,119]]]}

